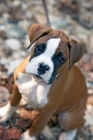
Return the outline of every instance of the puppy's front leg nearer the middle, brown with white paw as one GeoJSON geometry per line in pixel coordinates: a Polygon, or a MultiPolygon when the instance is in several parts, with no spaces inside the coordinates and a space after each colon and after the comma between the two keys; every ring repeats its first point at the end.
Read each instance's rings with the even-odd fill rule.
{"type": "Polygon", "coordinates": [[[53,135],[50,134],[51,132],[49,132],[49,129],[45,127],[47,125],[49,119],[51,118],[51,116],[54,114],[55,109],[56,109],[56,107],[54,107],[54,106],[52,109],[50,109],[49,106],[48,106],[48,108],[45,107],[44,109],[42,109],[40,111],[39,116],[37,116],[37,118],[33,121],[30,129],[28,129],[21,135],[20,140],[24,140],[24,139],[25,140],[36,140],[37,137],[39,136],[39,134],[42,133],[42,131],[43,131],[43,133],[45,133],[46,130],[47,130],[47,135],[49,135],[49,137],[51,137],[50,139],[51,140],[55,139],[53,137],[53,135]]]}

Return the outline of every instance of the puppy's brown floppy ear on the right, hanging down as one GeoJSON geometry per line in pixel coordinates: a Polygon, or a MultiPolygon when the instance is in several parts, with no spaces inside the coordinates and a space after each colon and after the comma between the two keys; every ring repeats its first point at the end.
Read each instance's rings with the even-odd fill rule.
{"type": "Polygon", "coordinates": [[[80,60],[85,52],[85,48],[83,45],[78,43],[74,39],[68,39],[68,47],[69,47],[69,65],[68,69],[70,71],[72,65],[80,60]]]}

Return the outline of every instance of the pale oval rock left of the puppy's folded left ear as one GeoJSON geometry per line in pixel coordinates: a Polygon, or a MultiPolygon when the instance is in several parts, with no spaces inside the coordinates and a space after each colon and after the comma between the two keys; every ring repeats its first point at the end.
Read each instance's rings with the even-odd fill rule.
{"type": "Polygon", "coordinates": [[[7,39],[5,41],[5,45],[7,48],[10,48],[11,50],[19,50],[21,48],[21,43],[19,42],[19,40],[14,38],[7,39]]]}

